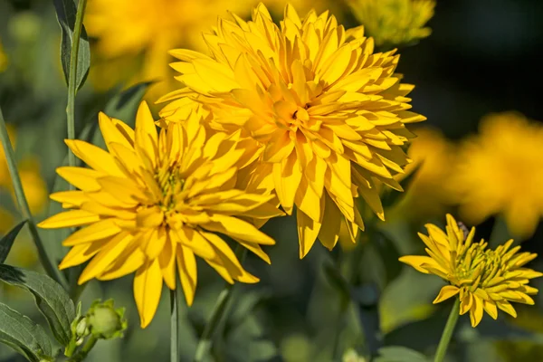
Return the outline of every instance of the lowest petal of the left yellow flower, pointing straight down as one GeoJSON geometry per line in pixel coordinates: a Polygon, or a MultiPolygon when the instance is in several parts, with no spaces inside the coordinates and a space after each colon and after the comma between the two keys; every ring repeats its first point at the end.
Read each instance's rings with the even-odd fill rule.
{"type": "Polygon", "coordinates": [[[155,317],[162,293],[162,272],[158,260],[146,262],[134,278],[134,299],[138,306],[141,328],[144,329],[155,317]]]}

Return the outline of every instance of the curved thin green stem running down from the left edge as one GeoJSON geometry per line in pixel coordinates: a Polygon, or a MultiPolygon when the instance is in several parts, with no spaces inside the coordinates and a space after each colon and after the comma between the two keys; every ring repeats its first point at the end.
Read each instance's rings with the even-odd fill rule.
{"type": "Polygon", "coordinates": [[[42,239],[34,223],[32,214],[30,212],[30,207],[28,207],[28,202],[24,196],[23,183],[21,182],[21,176],[19,176],[19,171],[17,170],[17,164],[15,162],[14,148],[11,145],[9,136],[7,134],[7,128],[5,126],[4,116],[2,110],[0,109],[0,143],[4,146],[5,160],[7,162],[7,168],[11,175],[12,184],[14,185],[15,198],[17,199],[17,204],[19,205],[19,210],[23,214],[23,217],[28,220],[28,229],[32,234],[33,242],[38,249],[38,254],[40,257],[40,262],[42,262],[43,269],[47,272],[53,280],[60,283],[63,287],[66,287],[64,278],[62,277],[61,271],[58,270],[56,265],[54,265],[47,255],[45,248],[43,247],[42,239]]]}

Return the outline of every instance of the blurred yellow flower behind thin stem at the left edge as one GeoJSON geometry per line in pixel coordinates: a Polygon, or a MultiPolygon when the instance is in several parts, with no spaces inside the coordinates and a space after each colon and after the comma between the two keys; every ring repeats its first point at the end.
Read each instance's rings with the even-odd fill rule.
{"type": "MultiPolygon", "coordinates": [[[[14,147],[16,140],[15,130],[8,126],[7,132],[12,146],[14,147]]],[[[24,195],[30,206],[30,211],[33,214],[39,214],[47,204],[47,186],[40,174],[40,164],[35,157],[26,156],[19,162],[17,168],[19,170],[19,176],[21,176],[24,195]]],[[[9,190],[14,198],[14,188],[5,161],[4,148],[0,143],[0,192],[2,191],[2,188],[9,190]]]]}

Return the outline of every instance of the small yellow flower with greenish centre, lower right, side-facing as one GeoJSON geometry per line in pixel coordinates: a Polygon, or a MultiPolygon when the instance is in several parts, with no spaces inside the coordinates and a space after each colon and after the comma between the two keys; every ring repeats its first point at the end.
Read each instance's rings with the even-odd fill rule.
{"type": "Polygon", "coordinates": [[[483,240],[473,243],[475,228],[468,233],[450,214],[447,214],[446,233],[434,224],[426,224],[426,229],[428,235],[419,233],[419,236],[430,256],[403,256],[400,262],[450,282],[433,300],[434,304],[459,295],[460,314],[470,312],[472,327],[481,322],[483,310],[493,319],[498,318],[498,309],[517,317],[510,301],[534,304],[529,295],[537,294],[538,290],[528,283],[543,273],[523,266],[538,254],[518,253],[520,246],[510,248],[512,240],[496,250],[487,249],[483,240]]]}

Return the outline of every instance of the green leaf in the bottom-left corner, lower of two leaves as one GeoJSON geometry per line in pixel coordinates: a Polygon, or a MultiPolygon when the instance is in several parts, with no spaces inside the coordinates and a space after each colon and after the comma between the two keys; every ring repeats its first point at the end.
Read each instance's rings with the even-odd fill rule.
{"type": "Polygon", "coordinates": [[[54,360],[52,344],[41,326],[0,303],[0,342],[32,362],[54,360]]]}

